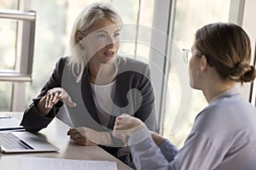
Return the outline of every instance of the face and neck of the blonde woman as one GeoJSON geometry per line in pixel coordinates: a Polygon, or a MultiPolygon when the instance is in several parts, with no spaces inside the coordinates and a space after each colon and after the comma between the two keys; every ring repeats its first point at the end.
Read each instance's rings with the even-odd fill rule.
{"type": "Polygon", "coordinates": [[[83,38],[84,46],[89,57],[90,82],[108,84],[113,82],[113,59],[119,51],[119,26],[111,20],[102,19],[89,30],[83,38]]]}

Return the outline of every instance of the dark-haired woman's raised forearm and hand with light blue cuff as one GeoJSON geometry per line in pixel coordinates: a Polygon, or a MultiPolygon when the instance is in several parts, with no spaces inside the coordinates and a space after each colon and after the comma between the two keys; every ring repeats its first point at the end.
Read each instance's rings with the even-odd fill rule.
{"type": "MultiPolygon", "coordinates": [[[[151,138],[152,133],[148,131],[148,128],[141,120],[128,115],[117,117],[113,135],[119,139],[123,139],[130,146],[131,155],[137,169],[160,169],[160,166],[168,165],[168,161],[161,154],[160,148],[151,138]],[[154,159],[153,164],[150,163],[152,160],[151,157],[154,159]]],[[[156,142],[162,140],[158,135],[153,136],[156,142]]],[[[163,142],[161,143],[163,144],[163,142]]]]}

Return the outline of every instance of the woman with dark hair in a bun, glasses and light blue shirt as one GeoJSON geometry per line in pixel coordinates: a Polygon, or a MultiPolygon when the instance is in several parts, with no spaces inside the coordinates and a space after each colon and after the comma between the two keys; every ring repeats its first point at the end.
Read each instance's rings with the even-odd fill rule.
{"type": "Polygon", "coordinates": [[[203,26],[191,52],[190,86],[200,89],[209,105],[196,116],[183,148],[127,115],[117,117],[113,134],[130,145],[138,169],[256,169],[256,108],[236,89],[237,82],[256,76],[247,33],[231,23],[203,26]]]}

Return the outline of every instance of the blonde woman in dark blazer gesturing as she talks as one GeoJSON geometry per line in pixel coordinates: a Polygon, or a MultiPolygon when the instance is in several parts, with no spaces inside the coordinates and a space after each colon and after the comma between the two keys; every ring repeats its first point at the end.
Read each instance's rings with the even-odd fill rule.
{"type": "MultiPolygon", "coordinates": [[[[73,25],[72,54],[61,57],[21,125],[38,132],[63,103],[73,123],[67,134],[75,144],[100,145],[132,166],[130,151],[112,135],[116,116],[129,113],[156,129],[154,92],[147,64],[119,52],[123,22],[109,3],[92,3],[73,25]]],[[[42,65],[43,66],[43,65],[42,65]]]]}

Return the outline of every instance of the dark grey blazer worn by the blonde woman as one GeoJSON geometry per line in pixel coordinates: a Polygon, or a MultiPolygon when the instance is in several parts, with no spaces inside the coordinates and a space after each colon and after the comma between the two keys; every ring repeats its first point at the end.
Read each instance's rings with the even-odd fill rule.
{"type": "Polygon", "coordinates": [[[76,82],[70,66],[67,65],[67,59],[67,57],[59,59],[49,81],[26,109],[20,124],[27,131],[38,132],[47,127],[63,105],[61,101],[58,102],[48,116],[41,116],[38,113],[35,105],[51,88],[64,88],[77,103],[76,107],[68,108],[69,116],[75,127],[85,126],[97,131],[111,130],[116,116],[127,113],[141,119],[149,129],[156,130],[154,91],[150,82],[148,65],[135,59],[117,57],[119,65],[113,97],[113,112],[108,127],[102,127],[91,93],[87,68],[84,69],[81,81],[76,82]]]}

